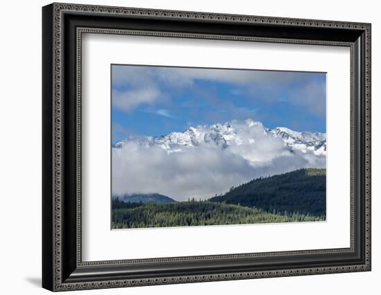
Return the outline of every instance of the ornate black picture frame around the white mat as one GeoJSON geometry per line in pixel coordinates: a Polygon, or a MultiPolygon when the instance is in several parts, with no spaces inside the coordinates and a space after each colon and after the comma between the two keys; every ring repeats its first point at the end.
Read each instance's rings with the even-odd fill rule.
{"type": "Polygon", "coordinates": [[[51,291],[371,270],[371,24],[53,3],[42,9],[42,286],[51,291]],[[81,36],[149,35],[351,49],[351,247],[82,261],[81,36]]]}

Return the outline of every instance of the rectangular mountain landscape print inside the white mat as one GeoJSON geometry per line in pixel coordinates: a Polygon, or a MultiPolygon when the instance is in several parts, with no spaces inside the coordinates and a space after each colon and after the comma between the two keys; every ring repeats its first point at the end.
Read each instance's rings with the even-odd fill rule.
{"type": "Polygon", "coordinates": [[[326,220],[326,73],[112,64],[112,229],[326,220]]]}

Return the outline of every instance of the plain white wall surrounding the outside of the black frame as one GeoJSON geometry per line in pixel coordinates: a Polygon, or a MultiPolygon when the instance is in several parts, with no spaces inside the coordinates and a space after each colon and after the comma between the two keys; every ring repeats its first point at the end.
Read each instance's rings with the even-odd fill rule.
{"type": "MultiPolygon", "coordinates": [[[[373,271],[220,283],[108,289],[71,294],[377,294],[381,278],[380,96],[381,19],[378,1],[71,1],[112,6],[226,12],[372,23],[373,37],[373,271]],[[372,291],[373,290],[373,291],[372,291]]],[[[41,289],[41,6],[49,1],[3,1],[0,44],[0,278],[2,294],[41,289]]]]}

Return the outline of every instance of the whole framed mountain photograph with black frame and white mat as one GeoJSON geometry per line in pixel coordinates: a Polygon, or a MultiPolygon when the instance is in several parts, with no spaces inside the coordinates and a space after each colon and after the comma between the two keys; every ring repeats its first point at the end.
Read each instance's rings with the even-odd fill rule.
{"type": "Polygon", "coordinates": [[[42,8],[42,285],[371,270],[371,24],[42,8]]]}

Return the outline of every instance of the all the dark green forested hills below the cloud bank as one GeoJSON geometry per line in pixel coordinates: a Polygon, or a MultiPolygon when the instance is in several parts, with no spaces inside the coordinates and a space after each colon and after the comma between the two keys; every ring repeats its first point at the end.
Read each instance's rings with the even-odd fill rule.
{"type": "Polygon", "coordinates": [[[317,220],[326,220],[325,169],[261,177],[204,201],[159,194],[112,200],[113,229],[317,220]]]}

